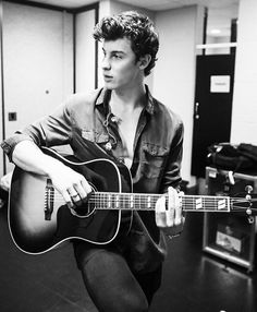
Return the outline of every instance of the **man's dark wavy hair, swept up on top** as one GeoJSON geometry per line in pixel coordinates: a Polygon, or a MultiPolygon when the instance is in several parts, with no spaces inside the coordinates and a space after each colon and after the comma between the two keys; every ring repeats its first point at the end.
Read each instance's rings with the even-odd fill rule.
{"type": "Polygon", "coordinates": [[[131,48],[136,56],[136,61],[145,55],[150,55],[151,60],[144,73],[147,76],[155,67],[156,55],[159,49],[159,37],[152,21],[136,11],[122,12],[121,14],[103,17],[93,33],[96,40],[117,40],[126,37],[131,40],[131,48]]]}

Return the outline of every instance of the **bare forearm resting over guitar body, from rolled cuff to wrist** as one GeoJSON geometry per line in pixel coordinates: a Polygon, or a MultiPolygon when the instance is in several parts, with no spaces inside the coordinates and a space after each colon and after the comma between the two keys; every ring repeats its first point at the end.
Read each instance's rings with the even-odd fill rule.
{"type": "Polygon", "coordinates": [[[57,167],[64,166],[58,159],[50,157],[32,141],[25,140],[16,144],[12,155],[13,163],[26,171],[51,176],[57,167]]]}

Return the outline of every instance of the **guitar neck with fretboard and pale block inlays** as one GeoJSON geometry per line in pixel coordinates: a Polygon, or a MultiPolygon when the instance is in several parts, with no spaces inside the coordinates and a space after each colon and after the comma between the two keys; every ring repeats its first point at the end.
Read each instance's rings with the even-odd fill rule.
{"type": "MultiPolygon", "coordinates": [[[[168,195],[166,194],[168,201],[168,195]]],[[[107,193],[96,192],[89,197],[89,204],[97,209],[154,211],[160,194],[107,193]]],[[[188,212],[230,212],[229,196],[181,195],[183,211],[188,212]]]]}

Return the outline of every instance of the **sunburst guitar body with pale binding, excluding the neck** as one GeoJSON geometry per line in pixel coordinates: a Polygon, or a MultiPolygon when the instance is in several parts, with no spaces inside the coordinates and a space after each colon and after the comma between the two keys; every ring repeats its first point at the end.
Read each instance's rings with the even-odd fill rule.
{"type": "MultiPolygon", "coordinates": [[[[76,163],[48,148],[44,148],[44,153],[82,173],[94,191],[132,191],[130,170],[125,166],[118,167],[105,158],[76,163]]],[[[109,243],[119,232],[121,216],[119,209],[95,209],[89,204],[70,209],[47,177],[19,167],[14,169],[10,189],[9,227],[15,244],[26,253],[40,254],[70,239],[82,239],[96,244],[109,243]]]]}

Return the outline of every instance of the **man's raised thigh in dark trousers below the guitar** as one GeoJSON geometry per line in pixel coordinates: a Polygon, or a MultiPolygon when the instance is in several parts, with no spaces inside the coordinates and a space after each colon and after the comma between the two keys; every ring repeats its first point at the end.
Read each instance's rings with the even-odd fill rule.
{"type": "Polygon", "coordinates": [[[75,254],[89,296],[99,311],[147,311],[146,296],[115,249],[78,247],[75,254]]]}

